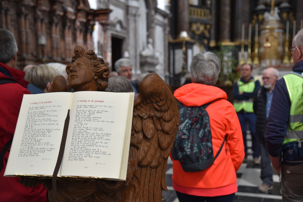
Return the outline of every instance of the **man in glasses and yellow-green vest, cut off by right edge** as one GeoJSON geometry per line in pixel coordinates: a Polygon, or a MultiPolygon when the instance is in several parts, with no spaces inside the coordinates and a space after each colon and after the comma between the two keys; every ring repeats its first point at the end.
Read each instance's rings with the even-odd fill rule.
{"type": "Polygon", "coordinates": [[[290,48],[295,63],[292,72],[275,85],[265,133],[272,165],[281,173],[283,201],[303,201],[303,162],[298,151],[298,142],[303,140],[302,48],[303,29],[295,35],[290,48]]]}

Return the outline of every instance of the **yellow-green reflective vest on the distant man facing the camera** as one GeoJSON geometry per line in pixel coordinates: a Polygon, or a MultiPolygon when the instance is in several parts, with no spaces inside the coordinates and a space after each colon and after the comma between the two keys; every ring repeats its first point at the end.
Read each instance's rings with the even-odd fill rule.
{"type": "MultiPolygon", "coordinates": [[[[251,79],[251,81],[245,83],[245,82],[242,82],[240,79],[238,79],[237,86],[238,86],[239,92],[245,92],[245,93],[254,92],[256,81],[257,81],[257,79],[251,79]]],[[[250,98],[248,100],[235,99],[234,107],[235,107],[236,112],[240,112],[242,109],[245,112],[254,112],[254,109],[253,109],[254,103],[253,102],[254,102],[253,98],[250,98]]]]}

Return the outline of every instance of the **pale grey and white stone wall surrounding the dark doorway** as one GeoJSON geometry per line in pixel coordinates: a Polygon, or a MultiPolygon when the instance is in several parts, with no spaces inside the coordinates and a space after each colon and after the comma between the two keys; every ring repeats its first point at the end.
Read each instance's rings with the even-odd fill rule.
{"type": "MultiPolygon", "coordinates": [[[[122,57],[128,56],[133,63],[133,79],[135,80],[142,72],[150,71],[158,73],[162,79],[168,75],[168,33],[170,12],[157,8],[157,0],[137,0],[137,1],[96,1],[97,8],[110,8],[108,24],[97,23],[95,30],[99,32],[95,37],[95,49],[99,56],[114,69],[112,54],[122,49],[122,57]],[[104,4],[104,2],[107,2],[104,4]],[[144,22],[143,22],[144,21],[144,22]],[[101,33],[100,33],[101,30],[101,33]],[[104,40],[106,36],[107,40],[104,40]],[[112,40],[121,40],[121,47],[114,47],[112,40]],[[141,52],[148,46],[148,38],[152,39],[152,46],[159,57],[141,60],[141,52]],[[125,52],[128,54],[124,55],[125,52]],[[141,60],[141,62],[140,62],[141,60]],[[148,62],[149,61],[149,62],[148,62]],[[148,68],[146,68],[148,66],[148,68]],[[151,68],[151,66],[153,66],[151,68]],[[155,67],[156,66],[156,67],[155,67]]],[[[95,35],[95,33],[94,33],[95,35]]],[[[167,79],[166,79],[167,80],[167,79]]]]}

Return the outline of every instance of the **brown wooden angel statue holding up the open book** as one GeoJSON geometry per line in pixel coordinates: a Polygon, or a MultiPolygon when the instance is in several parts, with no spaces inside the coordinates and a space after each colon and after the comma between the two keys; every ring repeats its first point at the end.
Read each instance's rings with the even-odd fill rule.
{"type": "MultiPolygon", "coordinates": [[[[77,91],[105,91],[109,69],[95,52],[81,46],[74,49],[72,63],[66,66],[68,82],[77,91]]],[[[67,91],[64,77],[56,77],[51,92],[67,91]]],[[[148,74],[141,82],[134,101],[132,134],[127,178],[114,180],[57,179],[55,201],[162,201],[167,190],[165,171],[177,127],[179,110],[171,88],[157,74],[148,74]]],[[[52,202],[53,187],[43,180],[52,202]]]]}

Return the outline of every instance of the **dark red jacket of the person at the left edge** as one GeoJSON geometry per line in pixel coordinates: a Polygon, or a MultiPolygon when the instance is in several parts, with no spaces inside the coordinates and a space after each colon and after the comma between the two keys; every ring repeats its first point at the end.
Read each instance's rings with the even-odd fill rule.
{"type": "MultiPolygon", "coordinates": [[[[23,95],[30,94],[26,89],[28,82],[23,79],[24,75],[23,71],[13,69],[0,62],[0,79],[17,82],[0,84],[0,151],[13,138],[23,95]]],[[[35,187],[24,187],[18,182],[20,179],[18,177],[3,177],[9,150],[3,160],[0,159],[3,163],[0,171],[0,201],[47,201],[46,189],[42,184],[35,187]]]]}

